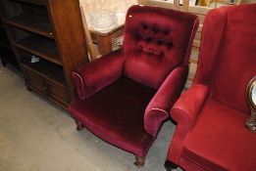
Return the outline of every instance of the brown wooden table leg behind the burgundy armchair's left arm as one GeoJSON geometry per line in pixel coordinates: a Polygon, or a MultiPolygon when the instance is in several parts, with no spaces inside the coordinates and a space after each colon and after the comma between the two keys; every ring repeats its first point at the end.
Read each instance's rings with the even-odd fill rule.
{"type": "Polygon", "coordinates": [[[112,52],[111,35],[97,35],[99,53],[106,55],[112,52]]]}

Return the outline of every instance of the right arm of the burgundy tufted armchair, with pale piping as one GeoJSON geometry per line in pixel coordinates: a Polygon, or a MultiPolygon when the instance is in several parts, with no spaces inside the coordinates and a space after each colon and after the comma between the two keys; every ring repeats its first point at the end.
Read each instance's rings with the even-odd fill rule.
{"type": "Polygon", "coordinates": [[[157,135],[163,121],[169,118],[169,111],[179,98],[187,72],[187,65],[176,67],[147,106],[144,115],[144,128],[152,136],[157,135]]]}

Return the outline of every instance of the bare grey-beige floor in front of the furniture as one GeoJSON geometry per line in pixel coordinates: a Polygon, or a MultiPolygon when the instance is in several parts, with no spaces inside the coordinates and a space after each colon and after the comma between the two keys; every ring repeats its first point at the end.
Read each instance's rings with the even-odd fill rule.
{"type": "Polygon", "coordinates": [[[22,75],[0,64],[0,171],[165,171],[174,129],[164,124],[136,168],[132,154],[77,132],[67,111],[26,91],[22,75]]]}

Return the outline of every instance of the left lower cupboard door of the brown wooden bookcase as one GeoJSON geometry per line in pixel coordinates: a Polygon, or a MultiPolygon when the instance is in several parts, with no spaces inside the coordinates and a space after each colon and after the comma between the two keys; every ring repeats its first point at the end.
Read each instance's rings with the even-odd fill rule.
{"type": "Polygon", "coordinates": [[[36,74],[35,72],[32,72],[29,69],[24,68],[26,82],[32,86],[33,88],[39,90],[41,93],[46,94],[47,93],[47,85],[45,83],[45,80],[40,75],[36,74]]]}

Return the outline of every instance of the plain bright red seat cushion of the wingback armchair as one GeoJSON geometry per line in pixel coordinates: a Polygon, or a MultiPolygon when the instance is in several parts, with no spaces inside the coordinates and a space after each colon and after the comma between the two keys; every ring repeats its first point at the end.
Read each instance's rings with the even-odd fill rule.
{"type": "Polygon", "coordinates": [[[255,171],[256,134],[242,113],[208,100],[184,141],[182,157],[206,170],[255,171]]]}

